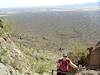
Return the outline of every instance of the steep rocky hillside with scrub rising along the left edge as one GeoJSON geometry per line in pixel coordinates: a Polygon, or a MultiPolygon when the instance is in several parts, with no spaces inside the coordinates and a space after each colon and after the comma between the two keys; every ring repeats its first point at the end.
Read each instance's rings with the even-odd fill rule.
{"type": "Polygon", "coordinates": [[[18,75],[30,72],[28,59],[10,39],[10,26],[0,20],[0,72],[2,75],[18,75]],[[17,72],[18,71],[18,72],[17,72]]]}

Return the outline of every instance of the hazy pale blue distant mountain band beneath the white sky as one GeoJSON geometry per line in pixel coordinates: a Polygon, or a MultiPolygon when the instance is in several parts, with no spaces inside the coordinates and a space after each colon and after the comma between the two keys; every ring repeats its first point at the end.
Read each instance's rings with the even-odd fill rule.
{"type": "Polygon", "coordinates": [[[14,14],[23,12],[40,12],[40,11],[75,11],[75,10],[100,10],[100,2],[75,4],[75,5],[62,5],[62,6],[48,6],[36,8],[0,8],[0,14],[14,14]]]}

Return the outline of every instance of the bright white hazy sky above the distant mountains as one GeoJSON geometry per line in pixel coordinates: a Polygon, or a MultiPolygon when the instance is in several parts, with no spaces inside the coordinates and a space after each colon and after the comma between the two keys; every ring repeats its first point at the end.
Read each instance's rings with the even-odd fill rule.
{"type": "Polygon", "coordinates": [[[36,7],[99,2],[100,0],[0,0],[0,8],[36,7]]]}

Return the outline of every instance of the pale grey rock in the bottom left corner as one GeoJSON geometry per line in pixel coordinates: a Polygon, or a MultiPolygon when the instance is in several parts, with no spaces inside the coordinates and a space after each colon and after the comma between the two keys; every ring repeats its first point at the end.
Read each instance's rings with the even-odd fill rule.
{"type": "Polygon", "coordinates": [[[0,63],[0,75],[17,75],[17,73],[11,66],[0,63]]]}

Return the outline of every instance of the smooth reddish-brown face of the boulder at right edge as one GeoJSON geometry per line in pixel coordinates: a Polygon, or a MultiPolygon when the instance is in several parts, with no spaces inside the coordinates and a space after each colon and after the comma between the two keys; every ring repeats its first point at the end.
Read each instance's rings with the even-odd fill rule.
{"type": "Polygon", "coordinates": [[[87,56],[87,66],[90,69],[100,69],[100,46],[92,49],[87,56]]]}

